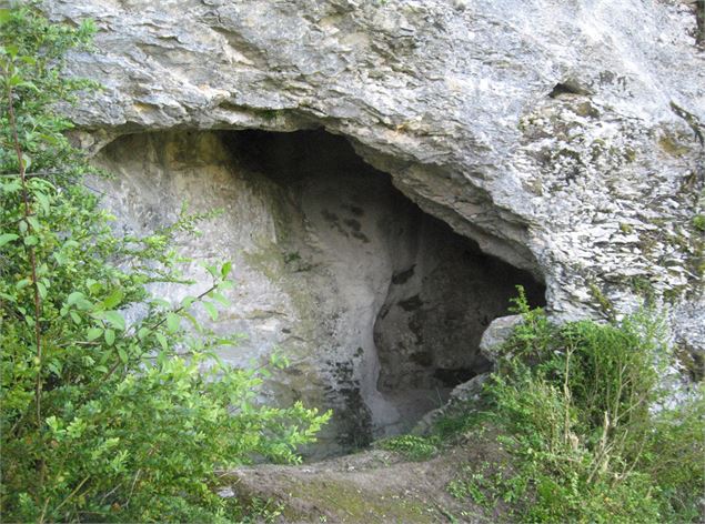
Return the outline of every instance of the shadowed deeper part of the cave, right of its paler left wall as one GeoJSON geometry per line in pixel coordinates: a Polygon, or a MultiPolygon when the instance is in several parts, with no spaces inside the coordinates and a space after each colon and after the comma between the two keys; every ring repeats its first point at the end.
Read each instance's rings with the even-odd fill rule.
{"type": "Polygon", "coordinates": [[[489,371],[480,339],[507,314],[516,284],[543,305],[545,289],[528,272],[424,213],[344,138],[240,131],[225,141],[285,194],[278,245],[314,296],[343,447],[410,430],[489,371]]]}

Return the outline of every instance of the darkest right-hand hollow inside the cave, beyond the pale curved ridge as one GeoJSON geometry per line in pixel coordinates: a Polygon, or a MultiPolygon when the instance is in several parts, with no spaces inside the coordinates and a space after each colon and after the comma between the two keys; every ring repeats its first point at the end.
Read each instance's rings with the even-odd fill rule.
{"type": "Polygon", "coordinates": [[[374,325],[377,390],[399,412],[385,434],[411,430],[456,385],[491,370],[480,340],[508,314],[517,284],[532,305],[544,305],[545,290],[528,272],[483,253],[421,210],[413,222],[414,249],[396,259],[374,325]]]}

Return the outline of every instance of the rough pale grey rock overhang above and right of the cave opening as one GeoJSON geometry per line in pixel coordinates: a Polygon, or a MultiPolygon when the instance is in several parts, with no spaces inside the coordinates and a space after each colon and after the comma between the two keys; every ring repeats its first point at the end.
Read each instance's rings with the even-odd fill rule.
{"type": "MultiPolygon", "coordinates": [[[[100,30],[97,53],[71,58],[74,72],[105,85],[71,112],[87,147],[153,130],[324,128],[424,211],[544,281],[555,316],[608,304],[625,312],[653,295],[674,341],[697,353],[705,58],[686,3],[50,0],[47,9],[91,17],[100,30]]],[[[130,172],[147,190],[140,169],[130,172]]],[[[270,283],[258,282],[266,294],[270,283]]]]}

